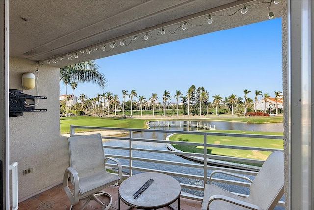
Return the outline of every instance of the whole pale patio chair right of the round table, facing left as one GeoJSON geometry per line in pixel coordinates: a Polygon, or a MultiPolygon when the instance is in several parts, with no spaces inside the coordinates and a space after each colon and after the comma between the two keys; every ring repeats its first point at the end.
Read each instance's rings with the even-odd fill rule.
{"type": "Polygon", "coordinates": [[[284,156],[281,151],[272,152],[264,162],[253,181],[249,178],[224,172],[213,171],[209,184],[205,185],[202,210],[272,210],[284,194],[284,156]],[[211,184],[216,173],[233,175],[251,182],[248,197],[240,197],[211,184]]]}

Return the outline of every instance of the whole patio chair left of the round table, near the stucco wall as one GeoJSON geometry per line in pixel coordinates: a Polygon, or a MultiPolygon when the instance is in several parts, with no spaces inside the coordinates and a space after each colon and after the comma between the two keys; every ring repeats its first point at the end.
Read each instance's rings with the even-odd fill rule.
{"type": "Polygon", "coordinates": [[[102,137],[100,134],[68,137],[70,152],[70,167],[63,176],[63,188],[70,199],[71,207],[78,204],[79,200],[86,199],[84,209],[91,199],[109,209],[112,197],[109,193],[100,190],[122,182],[121,163],[110,157],[105,157],[102,137]],[[105,164],[113,160],[118,166],[118,174],[108,173],[105,164]],[[74,189],[69,188],[69,177],[74,189]],[[106,195],[110,202],[102,203],[97,196],[106,195]]]}

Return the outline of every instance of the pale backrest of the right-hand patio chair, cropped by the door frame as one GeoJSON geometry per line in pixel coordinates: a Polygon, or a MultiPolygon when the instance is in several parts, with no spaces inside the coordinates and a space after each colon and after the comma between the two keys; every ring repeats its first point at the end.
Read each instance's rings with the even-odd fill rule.
{"type": "Polygon", "coordinates": [[[250,186],[250,203],[273,209],[284,194],[284,154],[272,152],[250,186]]]}

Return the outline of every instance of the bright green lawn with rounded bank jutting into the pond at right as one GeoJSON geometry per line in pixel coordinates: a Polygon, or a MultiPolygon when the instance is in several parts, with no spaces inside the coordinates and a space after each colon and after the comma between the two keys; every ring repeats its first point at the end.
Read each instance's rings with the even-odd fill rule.
{"type": "MultiPolygon", "coordinates": [[[[264,135],[283,135],[282,132],[258,132],[258,131],[237,131],[237,130],[210,130],[209,132],[220,133],[243,133],[243,134],[264,134],[264,135]]],[[[174,134],[170,137],[172,141],[187,141],[203,143],[203,135],[174,134]]],[[[262,139],[262,138],[243,138],[227,136],[208,136],[207,143],[235,146],[266,147],[283,149],[283,140],[262,139]]],[[[185,152],[203,153],[202,146],[188,146],[172,144],[178,150],[185,152]]],[[[265,160],[271,152],[256,150],[238,150],[229,148],[208,147],[207,154],[224,155],[230,157],[251,158],[265,160]]]]}

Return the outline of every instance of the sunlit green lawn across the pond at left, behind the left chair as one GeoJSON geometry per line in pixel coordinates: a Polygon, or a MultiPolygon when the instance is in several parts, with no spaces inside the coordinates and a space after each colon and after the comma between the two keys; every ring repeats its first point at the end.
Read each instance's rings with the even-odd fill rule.
{"type": "MultiPolygon", "coordinates": [[[[123,127],[123,128],[147,128],[145,123],[148,120],[117,117],[96,117],[96,116],[71,116],[60,118],[61,134],[70,133],[70,125],[97,126],[97,127],[123,127]]],[[[79,131],[80,129],[76,129],[79,131]]],[[[82,130],[82,129],[81,129],[82,130]]]]}

